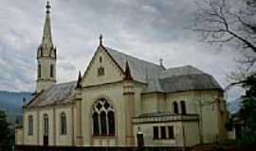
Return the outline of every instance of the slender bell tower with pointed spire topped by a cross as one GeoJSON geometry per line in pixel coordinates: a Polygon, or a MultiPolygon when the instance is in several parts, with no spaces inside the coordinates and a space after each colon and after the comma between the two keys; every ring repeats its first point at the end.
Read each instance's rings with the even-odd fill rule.
{"type": "Polygon", "coordinates": [[[37,49],[36,92],[46,90],[56,83],[57,52],[51,37],[50,8],[47,1],[43,38],[37,49]]]}

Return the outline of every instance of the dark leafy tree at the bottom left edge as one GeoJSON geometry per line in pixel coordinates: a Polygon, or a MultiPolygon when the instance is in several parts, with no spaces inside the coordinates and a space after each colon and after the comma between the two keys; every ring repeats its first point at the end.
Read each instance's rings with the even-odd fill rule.
{"type": "Polygon", "coordinates": [[[9,129],[6,112],[0,110],[0,151],[12,150],[14,133],[9,129]]]}

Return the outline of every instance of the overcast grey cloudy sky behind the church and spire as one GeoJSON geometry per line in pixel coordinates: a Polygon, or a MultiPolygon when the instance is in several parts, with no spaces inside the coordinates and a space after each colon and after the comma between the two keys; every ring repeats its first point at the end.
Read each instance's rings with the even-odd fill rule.
{"type": "MultiPolygon", "coordinates": [[[[57,81],[75,80],[86,69],[103,35],[104,45],[166,68],[192,65],[222,87],[235,70],[229,47],[200,42],[189,27],[195,0],[52,0],[57,81]]],[[[45,0],[0,0],[0,91],[35,90],[36,50],[46,16],[45,0]]],[[[236,97],[229,92],[229,97],[236,97]]]]}

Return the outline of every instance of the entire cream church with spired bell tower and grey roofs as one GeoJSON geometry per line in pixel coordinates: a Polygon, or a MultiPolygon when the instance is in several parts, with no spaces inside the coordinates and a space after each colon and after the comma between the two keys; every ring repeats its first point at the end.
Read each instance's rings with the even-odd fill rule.
{"type": "Polygon", "coordinates": [[[49,146],[192,146],[225,140],[224,91],[190,65],[166,68],[99,45],[76,81],[58,83],[46,5],[36,92],[23,107],[15,143],[49,146]]]}

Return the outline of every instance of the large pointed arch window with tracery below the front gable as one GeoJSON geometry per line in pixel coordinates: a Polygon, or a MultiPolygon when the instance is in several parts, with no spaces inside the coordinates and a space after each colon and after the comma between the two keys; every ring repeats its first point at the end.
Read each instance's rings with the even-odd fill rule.
{"type": "Polygon", "coordinates": [[[92,123],[94,136],[115,136],[115,112],[106,99],[101,98],[93,105],[92,123]]]}

